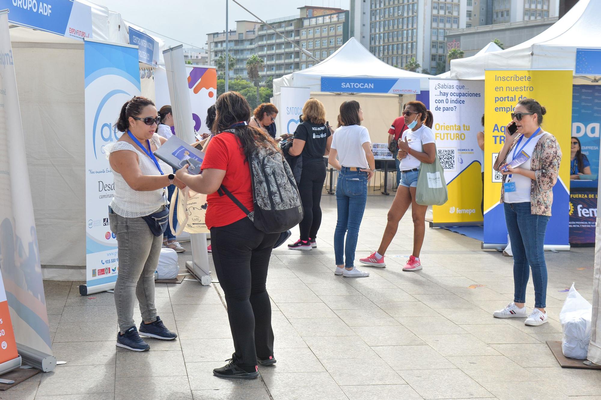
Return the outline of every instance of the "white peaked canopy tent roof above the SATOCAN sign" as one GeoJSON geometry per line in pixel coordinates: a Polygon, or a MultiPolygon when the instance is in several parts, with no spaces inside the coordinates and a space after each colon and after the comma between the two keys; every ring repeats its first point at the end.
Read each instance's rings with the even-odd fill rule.
{"type": "Polygon", "coordinates": [[[312,92],[322,91],[322,76],[366,77],[366,78],[418,78],[420,89],[429,90],[431,75],[401,70],[392,67],[365,49],[354,37],[343,44],[331,56],[313,67],[273,79],[273,94],[282,86],[302,86],[312,92]]]}

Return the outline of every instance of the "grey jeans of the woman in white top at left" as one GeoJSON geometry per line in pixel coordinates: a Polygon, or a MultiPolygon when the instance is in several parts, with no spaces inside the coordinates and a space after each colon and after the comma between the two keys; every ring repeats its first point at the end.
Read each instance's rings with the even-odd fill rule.
{"type": "Polygon", "coordinates": [[[154,271],[159,264],[163,236],[154,236],[141,217],[126,218],[109,213],[111,230],[117,235],[119,274],[115,284],[115,306],[121,332],[132,326],[134,294],[142,320],[156,321],[154,271]]]}

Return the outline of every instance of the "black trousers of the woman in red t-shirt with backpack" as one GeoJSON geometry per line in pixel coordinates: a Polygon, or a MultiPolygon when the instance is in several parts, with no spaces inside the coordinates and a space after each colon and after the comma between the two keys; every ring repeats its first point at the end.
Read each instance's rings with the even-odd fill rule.
{"type": "Polygon", "coordinates": [[[211,228],[211,249],[219,283],[225,292],[234,363],[257,365],[257,356],[273,355],[271,304],[265,288],[267,267],[279,234],[264,234],[243,218],[211,228]]]}

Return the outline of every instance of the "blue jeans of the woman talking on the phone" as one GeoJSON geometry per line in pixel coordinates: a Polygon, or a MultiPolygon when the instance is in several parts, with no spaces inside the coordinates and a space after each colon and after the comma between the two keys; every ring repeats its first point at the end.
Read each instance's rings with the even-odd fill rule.
{"type": "Polygon", "coordinates": [[[530,212],[530,202],[504,203],[505,223],[513,252],[513,301],[526,302],[526,285],[532,268],[534,307],[545,308],[547,297],[547,264],[545,264],[545,232],[549,217],[530,212]],[[528,268],[528,265],[530,268],[528,268]]]}

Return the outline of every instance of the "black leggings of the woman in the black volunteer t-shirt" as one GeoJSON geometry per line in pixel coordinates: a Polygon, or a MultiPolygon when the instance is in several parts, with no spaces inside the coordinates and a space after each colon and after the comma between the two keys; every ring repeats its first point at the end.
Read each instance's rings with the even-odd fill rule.
{"type": "Polygon", "coordinates": [[[299,192],[301,193],[304,217],[299,223],[301,229],[301,240],[316,238],[319,226],[322,225],[322,201],[323,183],[326,180],[326,166],[323,159],[303,159],[301,182],[299,192]]]}

